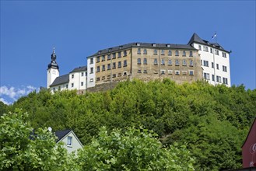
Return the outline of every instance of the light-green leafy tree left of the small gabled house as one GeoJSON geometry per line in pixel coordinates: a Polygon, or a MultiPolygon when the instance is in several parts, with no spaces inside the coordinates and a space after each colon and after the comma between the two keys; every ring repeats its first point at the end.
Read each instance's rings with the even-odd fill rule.
{"type": "Polygon", "coordinates": [[[33,128],[21,110],[0,118],[1,170],[75,170],[72,156],[47,128],[33,128]]]}

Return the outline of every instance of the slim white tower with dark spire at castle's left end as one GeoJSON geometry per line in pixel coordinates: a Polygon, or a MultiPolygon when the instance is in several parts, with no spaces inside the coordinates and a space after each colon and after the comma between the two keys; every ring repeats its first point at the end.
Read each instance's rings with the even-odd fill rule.
{"type": "Polygon", "coordinates": [[[55,47],[51,54],[51,63],[47,68],[47,89],[50,88],[52,82],[59,76],[58,64],[56,62],[55,47]]]}

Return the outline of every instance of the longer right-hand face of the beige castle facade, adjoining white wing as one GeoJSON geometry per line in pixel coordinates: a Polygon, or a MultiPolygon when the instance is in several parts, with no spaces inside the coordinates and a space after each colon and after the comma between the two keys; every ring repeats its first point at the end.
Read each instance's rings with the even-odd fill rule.
{"type": "Polygon", "coordinates": [[[202,68],[198,51],[190,52],[188,49],[170,48],[160,49],[158,47],[132,47],[132,54],[131,79],[136,78],[148,82],[153,79],[169,78],[178,83],[202,79],[202,68]],[[138,53],[139,48],[140,54],[138,53]],[[176,55],[176,51],[178,51],[178,55],[176,55]],[[184,52],[185,55],[183,55],[184,52]],[[192,53],[192,56],[190,56],[190,53],[192,53]],[[140,59],[140,63],[138,59],[140,59]]]}

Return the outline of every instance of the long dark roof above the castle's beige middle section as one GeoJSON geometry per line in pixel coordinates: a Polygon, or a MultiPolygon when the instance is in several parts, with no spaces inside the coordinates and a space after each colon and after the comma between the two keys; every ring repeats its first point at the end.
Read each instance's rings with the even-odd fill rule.
{"type": "MultiPolygon", "coordinates": [[[[100,55],[100,54],[107,54],[109,52],[114,52],[114,51],[122,51],[122,50],[125,50],[125,49],[128,49],[128,48],[131,48],[131,47],[153,47],[153,44],[155,43],[130,43],[130,44],[123,44],[123,45],[120,45],[120,46],[117,46],[117,47],[110,47],[110,48],[107,48],[107,49],[103,49],[103,50],[100,50],[98,52],[96,52],[95,54],[87,57],[87,58],[90,58],[90,57],[93,57],[93,56],[96,56],[96,55],[100,55]],[[139,45],[137,45],[139,44],[139,45]]],[[[196,50],[195,47],[192,47],[190,44],[156,44],[155,47],[160,47],[160,48],[170,48],[170,49],[189,49],[189,50],[196,50]],[[167,45],[169,45],[169,47],[167,47],[167,45]]],[[[153,48],[155,48],[153,47],[153,48]]]]}

